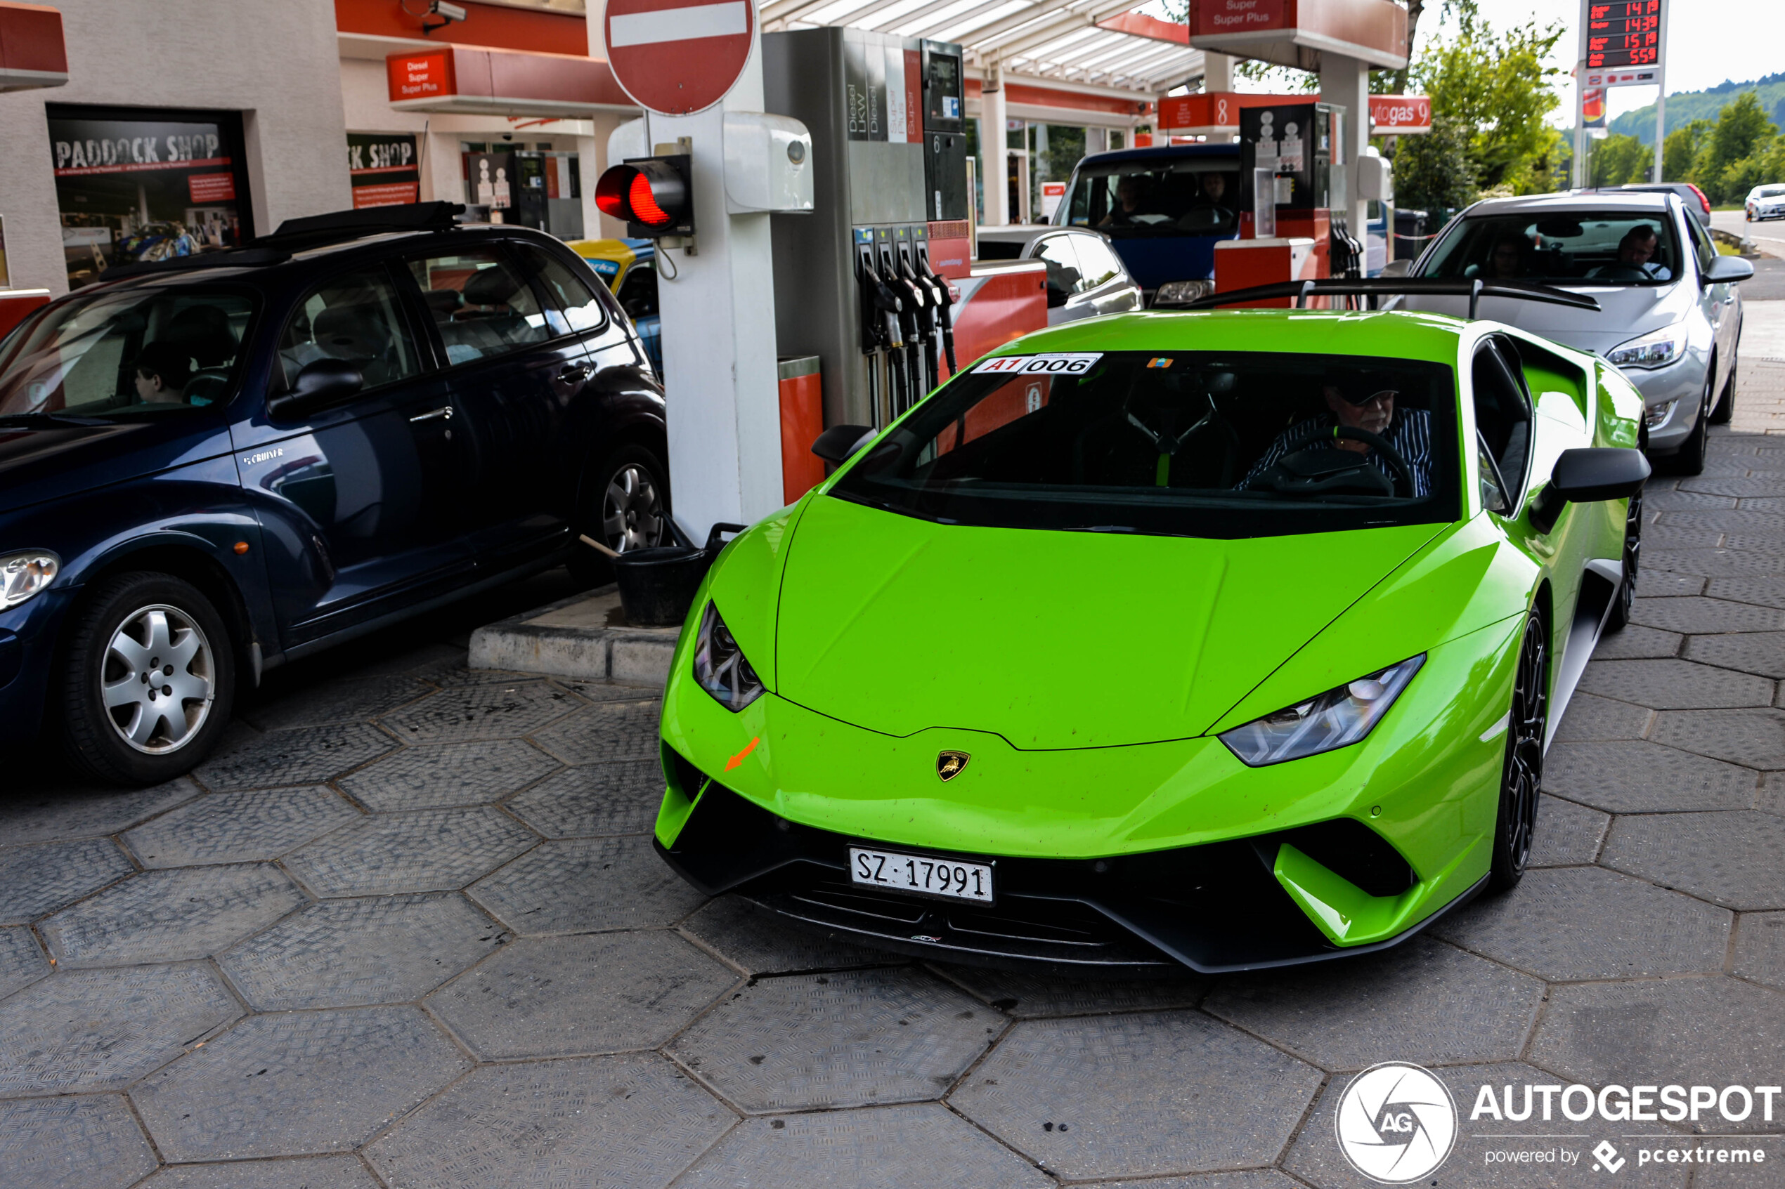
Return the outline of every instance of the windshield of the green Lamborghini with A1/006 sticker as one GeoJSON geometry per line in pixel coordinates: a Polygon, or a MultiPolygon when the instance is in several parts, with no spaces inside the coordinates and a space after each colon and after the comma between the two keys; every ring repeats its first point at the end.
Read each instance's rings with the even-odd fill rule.
{"type": "Polygon", "coordinates": [[[1453,521],[1457,381],[1408,360],[982,360],[832,488],[944,524],[1282,537],[1453,521]]]}

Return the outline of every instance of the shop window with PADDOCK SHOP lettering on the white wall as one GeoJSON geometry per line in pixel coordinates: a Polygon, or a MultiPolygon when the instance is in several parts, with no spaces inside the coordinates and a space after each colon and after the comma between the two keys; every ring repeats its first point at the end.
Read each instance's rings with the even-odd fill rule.
{"type": "Polygon", "coordinates": [[[70,287],[253,237],[237,112],[45,111],[70,287]]]}

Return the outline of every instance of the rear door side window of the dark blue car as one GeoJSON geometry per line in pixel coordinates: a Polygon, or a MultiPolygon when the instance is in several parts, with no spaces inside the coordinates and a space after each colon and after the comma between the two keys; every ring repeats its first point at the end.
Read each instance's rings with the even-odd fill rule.
{"type": "Polygon", "coordinates": [[[448,364],[507,355],[552,337],[532,287],[494,248],[409,262],[448,364]]]}

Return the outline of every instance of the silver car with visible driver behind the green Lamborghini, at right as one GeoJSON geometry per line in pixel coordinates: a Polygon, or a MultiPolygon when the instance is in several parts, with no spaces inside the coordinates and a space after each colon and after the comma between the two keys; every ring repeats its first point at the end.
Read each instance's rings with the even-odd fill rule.
{"type": "MultiPolygon", "coordinates": [[[[1737,282],[1674,194],[1540,194],[1478,201],[1414,260],[1408,276],[1526,280],[1583,292],[1598,312],[1483,298],[1480,316],[1601,355],[1642,390],[1648,453],[1680,474],[1705,467],[1706,426],[1735,410],[1742,333],[1737,282]]],[[[1401,308],[1462,316],[1467,298],[1408,296],[1401,308]]]]}

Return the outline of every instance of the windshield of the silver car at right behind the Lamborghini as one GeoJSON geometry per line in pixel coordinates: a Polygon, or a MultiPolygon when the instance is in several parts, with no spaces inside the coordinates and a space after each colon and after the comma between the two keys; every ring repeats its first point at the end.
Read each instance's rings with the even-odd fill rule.
{"type": "Polygon", "coordinates": [[[1546,285],[1662,285],[1680,276],[1673,221],[1631,210],[1458,219],[1417,276],[1546,285]]]}

